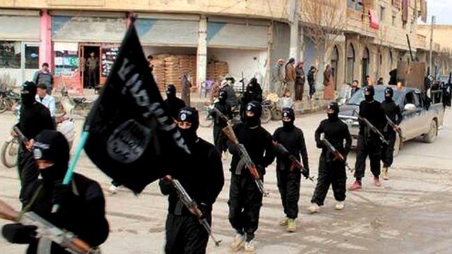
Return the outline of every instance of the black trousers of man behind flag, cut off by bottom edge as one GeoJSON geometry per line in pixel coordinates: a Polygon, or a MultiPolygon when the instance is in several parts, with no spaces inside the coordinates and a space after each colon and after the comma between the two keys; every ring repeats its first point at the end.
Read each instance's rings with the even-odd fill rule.
{"type": "MultiPolygon", "coordinates": [[[[207,221],[211,223],[211,214],[207,221]]],[[[206,253],[209,234],[193,215],[176,216],[168,214],[166,218],[166,254],[202,254],[206,253]]]]}

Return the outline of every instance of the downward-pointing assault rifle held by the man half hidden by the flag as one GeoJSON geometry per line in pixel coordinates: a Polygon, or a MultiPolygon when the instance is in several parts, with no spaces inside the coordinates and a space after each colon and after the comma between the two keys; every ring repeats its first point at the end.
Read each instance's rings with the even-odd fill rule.
{"type": "Polygon", "coordinates": [[[176,190],[177,196],[179,196],[179,199],[182,201],[182,203],[184,203],[185,207],[197,217],[202,227],[204,227],[213,242],[215,242],[215,245],[220,246],[221,240],[217,240],[213,236],[209,222],[207,222],[207,219],[204,217],[204,214],[202,214],[200,208],[197,208],[196,202],[188,195],[184,187],[182,187],[181,183],[179,183],[179,180],[168,177],[163,178],[163,180],[169,181],[171,183],[172,187],[174,187],[176,190]]]}

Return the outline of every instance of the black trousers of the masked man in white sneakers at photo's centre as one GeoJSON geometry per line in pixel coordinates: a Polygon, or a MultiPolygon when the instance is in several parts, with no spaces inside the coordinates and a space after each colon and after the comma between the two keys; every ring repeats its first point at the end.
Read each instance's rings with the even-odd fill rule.
{"type": "Polygon", "coordinates": [[[232,173],[227,204],[232,228],[241,234],[246,233],[247,241],[254,239],[259,226],[262,194],[248,174],[237,176],[232,173]]]}

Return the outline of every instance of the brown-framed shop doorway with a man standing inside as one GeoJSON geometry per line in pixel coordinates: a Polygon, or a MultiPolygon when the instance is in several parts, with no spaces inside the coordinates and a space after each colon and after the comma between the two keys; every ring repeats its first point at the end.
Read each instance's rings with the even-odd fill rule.
{"type": "Polygon", "coordinates": [[[100,44],[80,44],[80,76],[83,88],[93,89],[100,84],[100,44]]]}

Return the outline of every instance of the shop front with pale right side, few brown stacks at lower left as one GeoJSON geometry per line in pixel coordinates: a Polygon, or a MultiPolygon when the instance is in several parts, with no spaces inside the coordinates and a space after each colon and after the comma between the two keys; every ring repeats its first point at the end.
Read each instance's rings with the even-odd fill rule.
{"type": "Polygon", "coordinates": [[[255,77],[264,87],[269,25],[261,20],[209,17],[207,58],[211,67],[207,67],[207,80],[230,73],[236,80],[255,77]]]}

